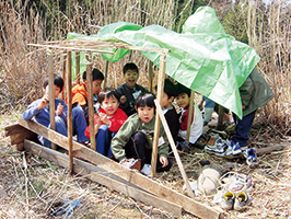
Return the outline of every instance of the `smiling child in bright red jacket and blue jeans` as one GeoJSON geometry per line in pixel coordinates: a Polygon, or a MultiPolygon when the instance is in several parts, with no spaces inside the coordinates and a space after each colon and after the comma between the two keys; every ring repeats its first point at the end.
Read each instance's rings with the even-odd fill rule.
{"type": "MultiPolygon", "coordinates": [[[[101,110],[94,116],[94,131],[96,137],[96,151],[103,155],[112,157],[110,140],[127,119],[126,113],[118,108],[119,95],[115,90],[101,91],[98,95],[101,110]]],[[[90,138],[90,126],[85,129],[90,138]]]]}

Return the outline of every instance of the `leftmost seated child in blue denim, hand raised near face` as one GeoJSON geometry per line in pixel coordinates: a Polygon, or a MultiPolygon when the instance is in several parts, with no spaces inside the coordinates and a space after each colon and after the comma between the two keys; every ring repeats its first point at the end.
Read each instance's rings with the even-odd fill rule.
{"type": "MultiPolygon", "coordinates": [[[[55,122],[56,131],[67,136],[67,105],[65,101],[58,100],[58,95],[61,93],[63,88],[63,80],[57,74],[54,74],[54,90],[55,90],[55,122]]],[[[46,127],[50,127],[49,118],[49,87],[48,78],[44,81],[43,91],[45,95],[31,103],[27,110],[22,114],[25,120],[34,119],[46,127]]],[[[86,127],[86,122],[81,107],[75,107],[72,111],[72,122],[73,122],[73,135],[77,135],[78,142],[84,142],[89,139],[84,136],[84,130],[86,127]]],[[[50,148],[50,141],[42,136],[37,137],[39,142],[46,147],[50,148]]]]}

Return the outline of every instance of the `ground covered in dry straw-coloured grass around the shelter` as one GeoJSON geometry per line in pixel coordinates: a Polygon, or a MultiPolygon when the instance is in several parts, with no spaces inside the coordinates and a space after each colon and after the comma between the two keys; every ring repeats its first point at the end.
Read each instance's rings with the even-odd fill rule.
{"type": "MultiPolygon", "coordinates": [[[[13,150],[3,128],[15,123],[19,115],[20,112],[13,112],[0,116],[0,218],[61,218],[62,215],[55,216],[53,212],[68,201],[80,201],[73,209],[72,218],[174,218],[83,176],[70,176],[68,170],[38,155],[13,150]]],[[[225,160],[201,151],[182,153],[181,159],[189,181],[197,180],[203,168],[201,161],[232,166],[236,172],[253,175],[255,189],[249,193],[252,204],[242,212],[224,211],[226,218],[291,218],[289,141],[288,137],[279,138],[271,127],[255,124],[252,147],[282,145],[284,149],[259,157],[259,164],[253,169],[246,165],[244,159],[225,160]]],[[[175,163],[168,173],[160,174],[156,181],[184,193],[184,183],[175,163]]],[[[195,199],[219,208],[211,196],[201,195],[195,199]]],[[[179,218],[195,217],[184,212],[179,218]]]]}

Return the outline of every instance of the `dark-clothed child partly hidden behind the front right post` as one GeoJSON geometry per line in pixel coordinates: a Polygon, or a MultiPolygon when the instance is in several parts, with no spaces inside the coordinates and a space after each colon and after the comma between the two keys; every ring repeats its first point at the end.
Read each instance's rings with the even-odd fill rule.
{"type": "Polygon", "coordinates": [[[165,115],[173,140],[176,142],[179,130],[179,120],[178,114],[172,104],[175,99],[175,85],[168,79],[165,79],[161,107],[165,115]]]}

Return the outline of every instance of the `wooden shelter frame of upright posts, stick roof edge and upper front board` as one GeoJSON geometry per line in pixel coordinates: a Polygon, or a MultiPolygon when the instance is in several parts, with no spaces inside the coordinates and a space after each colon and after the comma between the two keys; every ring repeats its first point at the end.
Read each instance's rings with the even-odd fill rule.
{"type": "MultiPolygon", "coordinates": [[[[67,149],[69,151],[69,157],[68,157],[68,163],[69,163],[69,171],[72,173],[75,170],[75,158],[77,157],[82,157],[85,160],[89,160],[91,163],[103,168],[105,171],[108,171],[113,174],[116,173],[116,171],[125,171],[126,168],[119,165],[115,161],[112,161],[110,159],[107,159],[103,157],[102,154],[98,154],[95,152],[95,136],[94,136],[94,110],[93,110],[93,93],[92,93],[92,62],[89,62],[86,65],[86,80],[88,80],[88,102],[89,102],[89,125],[90,125],[90,140],[91,140],[91,149],[82,146],[81,143],[74,142],[72,140],[72,103],[71,103],[71,53],[72,51],[88,51],[88,53],[104,53],[104,54],[109,54],[110,51],[104,50],[104,48],[124,48],[124,49],[131,49],[131,50],[149,50],[149,51],[156,51],[160,53],[160,70],[159,70],[159,76],[158,76],[158,92],[156,92],[156,100],[154,101],[156,105],[156,116],[155,116],[155,125],[154,125],[154,137],[153,137],[153,150],[152,150],[152,163],[151,163],[151,175],[152,177],[155,176],[155,165],[156,165],[156,158],[158,158],[158,145],[159,145],[159,134],[160,134],[160,123],[162,122],[165,132],[167,135],[170,146],[174,152],[176,162],[178,164],[179,171],[182,173],[182,176],[184,178],[184,182],[186,184],[187,197],[185,195],[182,195],[171,188],[167,188],[162,185],[156,185],[154,181],[151,178],[148,178],[137,171],[132,170],[126,170],[126,173],[120,173],[118,172],[117,175],[121,177],[123,180],[132,183],[135,186],[139,186],[142,189],[146,189],[147,192],[153,194],[158,198],[163,198],[166,201],[174,203],[170,205],[178,205],[184,208],[184,210],[191,212],[200,218],[220,218],[222,215],[220,211],[211,209],[208,206],[205,206],[202,204],[199,204],[193,199],[194,193],[193,189],[189,185],[188,178],[186,176],[185,170],[183,168],[183,164],[179,160],[179,155],[177,153],[173,137],[170,132],[167,123],[165,122],[164,114],[161,110],[160,103],[162,100],[162,94],[163,94],[163,88],[164,88],[164,78],[165,78],[165,61],[166,61],[166,54],[170,53],[168,49],[163,49],[163,48],[143,48],[143,47],[136,47],[136,46],[130,46],[127,44],[123,43],[108,43],[108,42],[97,42],[93,39],[72,39],[72,41],[59,41],[59,42],[49,42],[45,43],[43,45],[39,44],[30,44],[31,46],[35,47],[43,47],[50,49],[50,53],[48,54],[48,73],[49,73],[49,103],[51,104],[49,107],[50,108],[50,115],[55,115],[55,100],[53,95],[54,91],[54,71],[53,71],[53,51],[55,49],[61,49],[67,51],[67,61],[66,61],[66,73],[63,73],[65,82],[66,82],[66,93],[67,93],[67,101],[68,101],[68,137],[65,137],[58,132],[55,131],[55,117],[50,117],[50,124],[51,124],[51,130],[42,126],[40,124],[36,124],[34,122],[25,122],[22,118],[20,118],[18,128],[25,131],[28,130],[33,131],[37,135],[44,136],[48,140],[51,141],[53,149],[56,148],[55,145],[59,145],[60,147],[67,149]],[[21,127],[19,127],[21,126],[21,127]]],[[[90,60],[89,60],[90,61],[90,60]]],[[[105,61],[105,69],[107,69],[108,62],[105,61]]],[[[65,71],[63,71],[65,72],[65,71]]],[[[78,72],[78,70],[77,70],[78,72]]],[[[80,71],[79,71],[80,72],[80,71]]],[[[106,72],[105,70],[105,78],[106,78],[106,72]]],[[[78,78],[78,77],[77,77],[78,78]]],[[[193,99],[193,97],[191,97],[193,99]]],[[[193,104],[191,104],[193,107],[193,104]]],[[[8,128],[9,129],[9,128],[8,128]]],[[[9,132],[9,131],[8,131],[9,132]]],[[[8,135],[12,135],[11,132],[8,135]]],[[[28,135],[30,136],[30,135],[28,135]]],[[[23,137],[25,138],[25,137],[23,137]]],[[[24,139],[22,139],[22,142],[26,142],[27,148],[31,151],[35,150],[40,150],[39,148],[36,149],[36,146],[34,143],[28,142],[24,139]]],[[[20,148],[19,148],[20,149],[20,148]]],[[[45,153],[43,150],[43,153],[45,153]]],[[[46,150],[47,151],[47,150],[46,150]]],[[[59,155],[59,154],[58,154],[59,155]]],[[[96,176],[95,176],[96,177],[96,176]]],[[[104,180],[104,182],[108,183],[108,178],[104,180]]],[[[104,183],[104,185],[107,185],[104,183]]],[[[171,208],[171,207],[170,207],[171,208]]],[[[173,208],[173,210],[176,208],[173,208]]]]}

